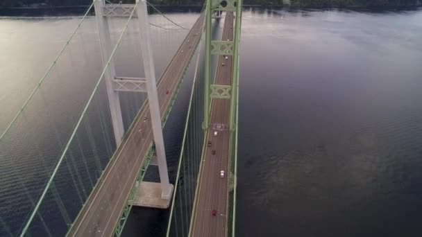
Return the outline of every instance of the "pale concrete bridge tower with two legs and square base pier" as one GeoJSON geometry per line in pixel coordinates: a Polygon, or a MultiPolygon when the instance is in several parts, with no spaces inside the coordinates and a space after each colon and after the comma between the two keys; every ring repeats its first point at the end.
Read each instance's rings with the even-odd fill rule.
{"type": "MultiPolygon", "coordinates": [[[[127,9],[133,7],[131,4],[105,4],[105,0],[94,0],[96,21],[99,29],[101,51],[103,55],[104,67],[108,62],[112,53],[112,45],[110,40],[110,30],[108,27],[108,17],[128,17],[127,9]],[[123,8],[126,8],[123,9],[123,8]],[[107,11],[104,11],[107,9],[107,11]],[[115,11],[116,10],[116,11],[115,11]],[[118,10],[118,11],[117,11],[118,10]],[[122,11],[123,10],[123,11],[122,11]]],[[[134,204],[142,207],[158,207],[167,208],[171,200],[174,186],[169,183],[169,174],[167,170],[166,154],[164,150],[164,139],[162,136],[162,124],[160,115],[160,104],[158,103],[157,82],[155,80],[155,67],[153,62],[153,51],[151,45],[151,35],[149,32],[148,11],[146,8],[146,0],[136,0],[137,8],[135,9],[137,19],[140,24],[140,46],[142,51],[142,60],[144,62],[145,78],[135,78],[139,83],[145,83],[145,90],[140,92],[148,94],[149,113],[151,115],[151,125],[153,129],[153,138],[155,143],[155,152],[157,154],[156,163],[158,164],[158,172],[160,174],[160,183],[142,182],[138,188],[137,200],[134,204]]],[[[119,91],[113,88],[116,80],[115,64],[110,60],[108,70],[105,73],[105,81],[107,85],[108,100],[112,116],[113,130],[117,146],[121,143],[124,135],[123,121],[121,119],[121,108],[119,102],[119,91]]],[[[119,78],[126,80],[125,78],[119,78]]]]}

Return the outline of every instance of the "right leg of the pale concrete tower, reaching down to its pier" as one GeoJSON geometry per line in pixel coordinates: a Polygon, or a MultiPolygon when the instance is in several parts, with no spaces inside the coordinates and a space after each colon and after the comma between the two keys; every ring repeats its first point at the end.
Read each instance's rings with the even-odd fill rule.
{"type": "Polygon", "coordinates": [[[169,173],[167,171],[166,153],[164,150],[164,139],[162,136],[160,104],[158,103],[157,82],[155,80],[155,67],[153,62],[151,35],[149,32],[148,12],[146,8],[146,0],[137,1],[139,1],[139,3],[136,12],[137,19],[140,24],[140,44],[142,59],[144,61],[146,91],[148,93],[149,112],[151,114],[155,152],[157,153],[158,172],[160,173],[160,198],[170,202],[174,187],[169,183],[169,173]]]}

